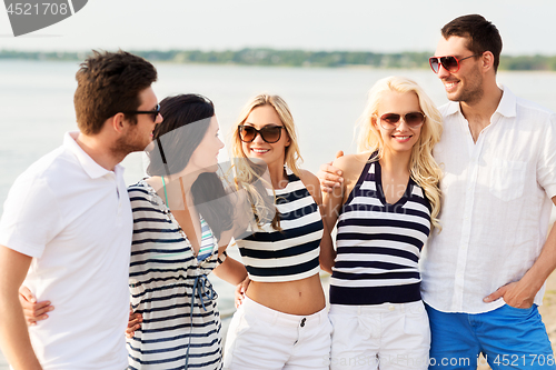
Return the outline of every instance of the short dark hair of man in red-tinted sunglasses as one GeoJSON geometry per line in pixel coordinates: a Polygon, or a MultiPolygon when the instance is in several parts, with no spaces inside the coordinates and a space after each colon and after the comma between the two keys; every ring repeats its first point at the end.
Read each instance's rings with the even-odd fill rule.
{"type": "Polygon", "coordinates": [[[451,36],[466,38],[467,49],[474,54],[490,51],[494,54],[494,70],[498,71],[502,52],[502,37],[496,26],[483,16],[461,16],[446,23],[441,29],[443,37],[447,40],[451,36]]]}

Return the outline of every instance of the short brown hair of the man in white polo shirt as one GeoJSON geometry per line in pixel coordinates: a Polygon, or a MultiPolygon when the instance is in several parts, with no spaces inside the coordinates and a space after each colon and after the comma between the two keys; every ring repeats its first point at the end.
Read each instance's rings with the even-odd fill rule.
{"type": "MultiPolygon", "coordinates": [[[[147,60],[119,50],[92,51],[76,73],[73,96],[77,124],[86,134],[99,133],[107,119],[141,104],[139,93],[157,80],[157,70],[147,60]]],[[[137,117],[126,116],[131,123],[137,117]]]]}

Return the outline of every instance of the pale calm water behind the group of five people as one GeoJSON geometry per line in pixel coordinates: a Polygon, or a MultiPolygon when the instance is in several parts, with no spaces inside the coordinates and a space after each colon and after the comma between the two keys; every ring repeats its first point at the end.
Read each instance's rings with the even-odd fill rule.
{"type": "MultiPolygon", "coordinates": [[[[354,127],[370,87],[396,74],[418,82],[437,104],[447,101],[444,87],[430,70],[370,68],[278,68],[156,63],[153,90],[159,100],[177,93],[201,93],[215,102],[226,142],[241,107],[260,92],[281,96],[291,109],[304,163],[318,171],[337,150],[355,152],[354,127]]],[[[0,203],[16,178],[33,161],[62,143],[66,131],[77,130],[73,110],[78,62],[0,60],[0,203]]],[[[498,82],[514,93],[556,111],[556,73],[499,72],[498,82]]],[[[222,161],[227,153],[221,153],[222,161]]],[[[125,161],[126,182],[145,176],[140,153],[125,161]]],[[[230,251],[239,258],[237,250],[230,251]]],[[[212,278],[224,316],[234,311],[234,288],[212,278]]],[[[56,304],[56,302],[54,302],[56,304]]],[[[0,369],[3,359],[0,356],[0,369]]]]}

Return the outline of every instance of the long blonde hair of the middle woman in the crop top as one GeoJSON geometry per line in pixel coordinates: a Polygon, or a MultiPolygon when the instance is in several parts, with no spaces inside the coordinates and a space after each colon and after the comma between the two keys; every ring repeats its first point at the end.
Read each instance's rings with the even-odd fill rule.
{"type": "MultiPolygon", "coordinates": [[[[276,113],[281,120],[284,128],[286,129],[286,134],[289,138],[289,146],[286,147],[285,163],[288,168],[300,177],[299,163],[302,162],[301,154],[299,152],[299,146],[297,142],[296,127],[294,124],[294,118],[288,108],[288,104],[278,96],[270,96],[267,93],[258,94],[257,97],[250,99],[247,104],[241,110],[239,118],[236,120],[236,124],[232,131],[231,138],[231,154],[236,174],[236,186],[238,188],[244,188],[250,198],[254,212],[257,218],[257,223],[260,227],[262,223],[271,219],[271,226],[276,230],[280,230],[279,214],[275,207],[274,200],[270,204],[266,197],[261,196],[265,189],[261,189],[260,181],[262,176],[262,168],[250,161],[244,153],[241,139],[239,138],[239,126],[244,124],[251,111],[255,108],[270,106],[275,109],[276,113]],[[256,186],[259,184],[259,186],[256,186]]],[[[270,184],[267,184],[271,187],[270,184]]]]}

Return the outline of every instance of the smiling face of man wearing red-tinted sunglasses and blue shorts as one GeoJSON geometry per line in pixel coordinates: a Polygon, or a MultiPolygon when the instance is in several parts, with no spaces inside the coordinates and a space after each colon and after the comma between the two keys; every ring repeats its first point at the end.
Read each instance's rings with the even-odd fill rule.
{"type": "MultiPolygon", "coordinates": [[[[467,49],[467,39],[457,36],[440,38],[435,57],[447,56],[454,56],[458,60],[473,56],[467,49]]],[[[483,74],[479,66],[480,58],[468,58],[459,62],[459,70],[456,72],[449,72],[444,67],[439,68],[437,76],[449,100],[473,104],[483,98],[483,74]]]]}

